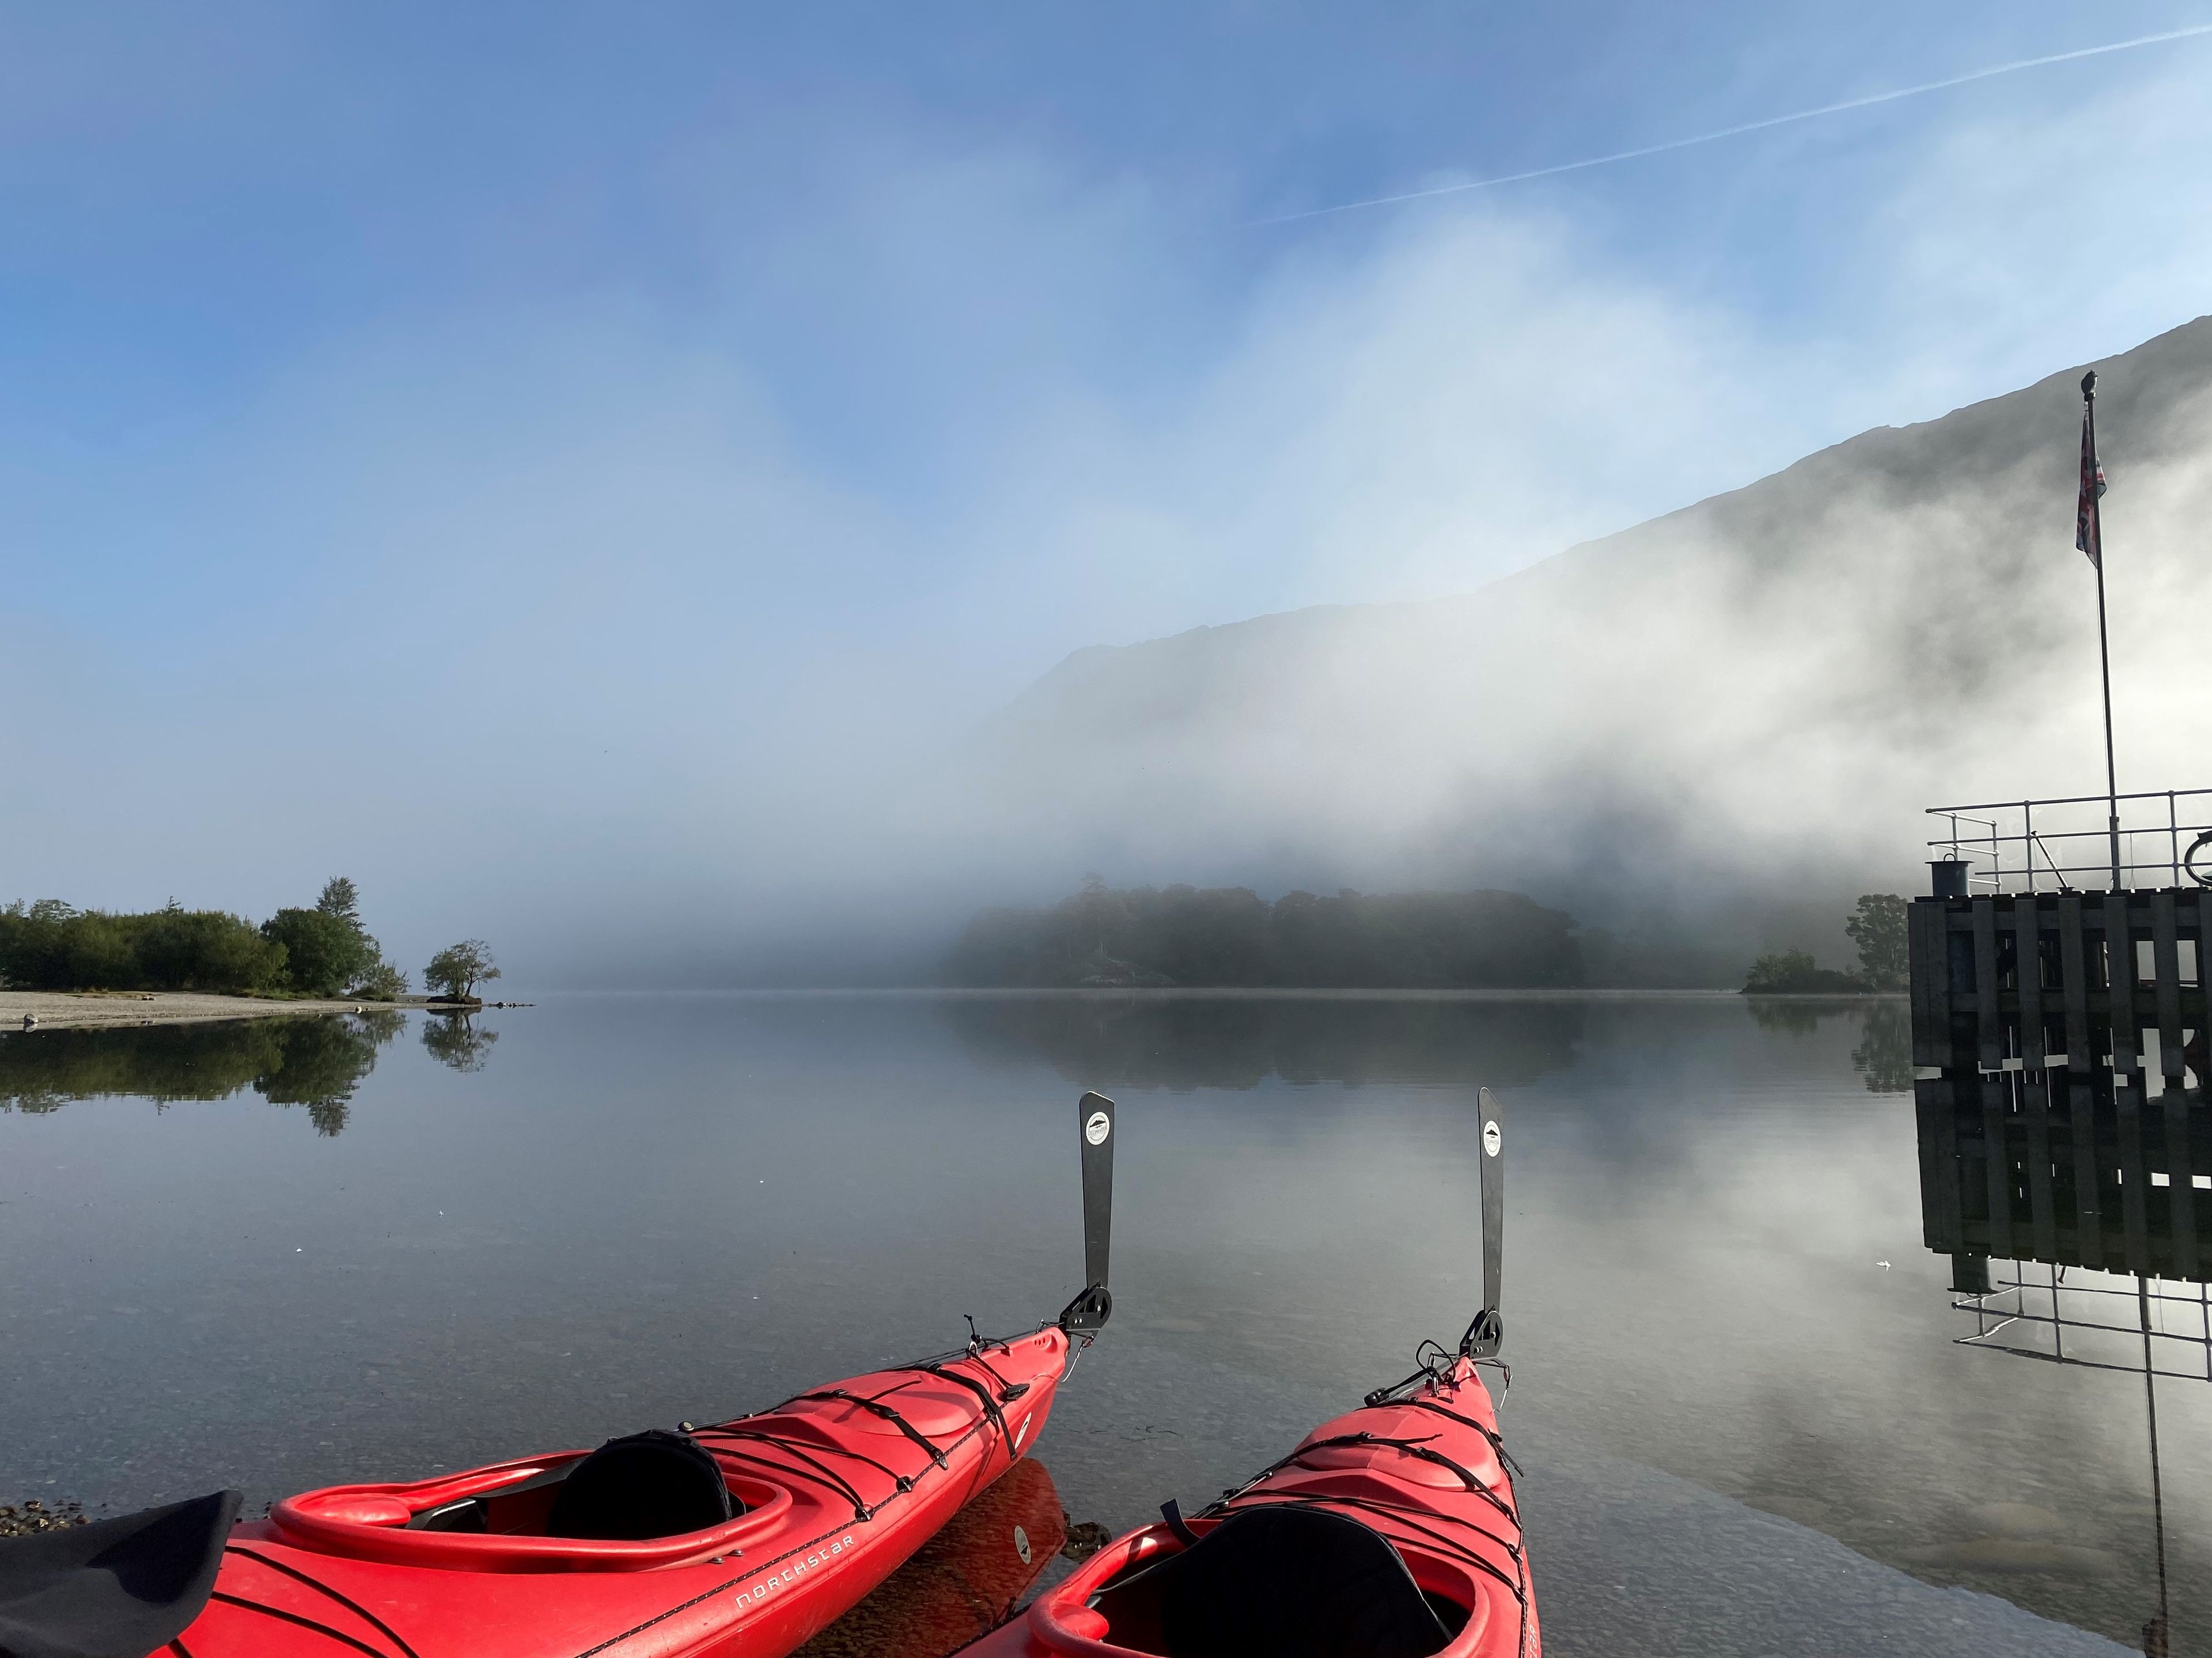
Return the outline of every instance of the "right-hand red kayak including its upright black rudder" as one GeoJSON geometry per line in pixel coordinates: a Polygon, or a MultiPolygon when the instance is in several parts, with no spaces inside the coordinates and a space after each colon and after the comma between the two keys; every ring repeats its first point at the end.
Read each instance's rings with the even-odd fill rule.
{"type": "Polygon", "coordinates": [[[967,1658],[1540,1658],[1498,1364],[1502,1119],[1482,1090],[1484,1309],[1447,1353],[1199,1514],[1108,1543],[967,1658]]]}

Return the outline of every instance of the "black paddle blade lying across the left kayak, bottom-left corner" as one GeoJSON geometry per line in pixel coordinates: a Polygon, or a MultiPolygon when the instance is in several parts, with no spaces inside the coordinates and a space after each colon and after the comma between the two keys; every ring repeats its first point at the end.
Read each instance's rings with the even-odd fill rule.
{"type": "Polygon", "coordinates": [[[137,1658],[190,1627],[223,1563],[239,1492],[0,1541],[0,1654],[137,1658]]]}

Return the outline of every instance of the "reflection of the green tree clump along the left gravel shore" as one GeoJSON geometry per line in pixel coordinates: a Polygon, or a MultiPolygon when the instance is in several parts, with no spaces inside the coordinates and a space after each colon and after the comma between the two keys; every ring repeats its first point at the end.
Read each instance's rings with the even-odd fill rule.
{"type": "Polygon", "coordinates": [[[27,1030],[0,1037],[0,1110],[53,1112],[128,1094],[157,1105],[230,1099],[252,1088],[270,1105],[305,1105],[316,1134],[338,1134],[376,1050],[407,1015],[221,1019],[190,1026],[27,1030]]]}

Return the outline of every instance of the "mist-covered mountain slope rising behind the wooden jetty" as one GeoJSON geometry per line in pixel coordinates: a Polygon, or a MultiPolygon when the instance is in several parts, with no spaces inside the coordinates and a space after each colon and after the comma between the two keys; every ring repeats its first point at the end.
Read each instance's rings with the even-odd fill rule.
{"type": "MultiPolygon", "coordinates": [[[[2212,318],[2097,369],[2121,787],[2188,787],[2212,780],[2212,318]]],[[[1464,597],[1075,652],[960,789],[1115,880],[1506,884],[1655,937],[1694,917],[1723,953],[1796,942],[1920,878],[1920,807],[2101,787],[2079,374],[1464,597]]]]}

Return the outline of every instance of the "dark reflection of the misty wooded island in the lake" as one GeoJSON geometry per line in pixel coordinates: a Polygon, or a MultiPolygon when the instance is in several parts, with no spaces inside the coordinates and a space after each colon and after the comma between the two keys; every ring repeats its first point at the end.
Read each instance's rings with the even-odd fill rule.
{"type": "Polygon", "coordinates": [[[1438,1081],[1566,1070],[1584,1001],[1358,995],[1044,995],[940,1004],[980,1061],[1042,1057],[1082,1088],[1438,1081]]]}

